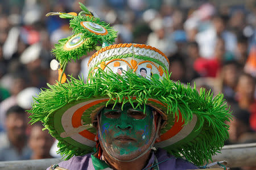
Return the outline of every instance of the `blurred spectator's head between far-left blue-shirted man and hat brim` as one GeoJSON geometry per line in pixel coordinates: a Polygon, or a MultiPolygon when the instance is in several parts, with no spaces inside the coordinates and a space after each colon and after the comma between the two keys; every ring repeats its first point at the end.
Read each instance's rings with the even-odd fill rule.
{"type": "Polygon", "coordinates": [[[48,130],[42,131],[44,126],[41,122],[36,122],[31,127],[28,146],[32,150],[30,159],[52,158],[49,154],[55,139],[49,134],[48,130]]]}

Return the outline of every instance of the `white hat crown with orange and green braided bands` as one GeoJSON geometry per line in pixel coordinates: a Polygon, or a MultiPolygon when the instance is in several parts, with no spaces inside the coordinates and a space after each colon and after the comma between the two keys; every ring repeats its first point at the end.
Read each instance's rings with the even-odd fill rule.
{"type": "Polygon", "coordinates": [[[114,44],[100,49],[88,61],[89,73],[101,68],[117,72],[118,68],[133,72],[146,69],[147,77],[163,77],[168,71],[169,60],[163,52],[145,44],[114,44]]]}

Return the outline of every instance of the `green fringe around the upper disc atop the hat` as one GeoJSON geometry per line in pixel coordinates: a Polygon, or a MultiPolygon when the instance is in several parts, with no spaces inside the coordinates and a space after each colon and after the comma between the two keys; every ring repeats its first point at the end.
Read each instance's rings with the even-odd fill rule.
{"type": "Polygon", "coordinates": [[[73,32],[75,32],[75,34],[79,34],[80,32],[82,32],[84,34],[85,39],[90,38],[94,41],[95,44],[97,44],[98,42],[100,42],[100,44],[103,44],[104,42],[113,44],[115,42],[115,38],[117,38],[117,31],[114,31],[113,28],[110,27],[109,24],[105,23],[104,21],[100,21],[100,18],[95,18],[93,16],[77,15],[70,20],[69,26],[73,29],[73,32]],[[89,30],[81,26],[80,22],[82,21],[88,21],[99,24],[100,26],[108,30],[108,34],[94,34],[93,32],[90,32],[89,30]]]}

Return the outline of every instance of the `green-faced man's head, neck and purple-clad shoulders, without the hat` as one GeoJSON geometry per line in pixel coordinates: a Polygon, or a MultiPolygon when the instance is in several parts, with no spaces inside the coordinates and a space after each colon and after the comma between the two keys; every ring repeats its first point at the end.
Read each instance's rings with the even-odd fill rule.
{"type": "Polygon", "coordinates": [[[59,163],[67,169],[197,169],[183,159],[152,147],[159,140],[161,116],[152,107],[133,109],[130,103],[104,107],[97,115],[98,150],[59,163]],[[160,163],[164,161],[164,163],[160,163]]]}

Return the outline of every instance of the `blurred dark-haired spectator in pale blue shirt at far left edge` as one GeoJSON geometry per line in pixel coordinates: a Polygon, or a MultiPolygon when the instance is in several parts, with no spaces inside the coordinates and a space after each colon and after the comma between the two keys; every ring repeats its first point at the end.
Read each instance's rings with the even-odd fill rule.
{"type": "Polygon", "coordinates": [[[6,134],[0,135],[0,161],[30,159],[31,150],[27,146],[28,119],[19,106],[10,107],[5,118],[6,134]]]}

